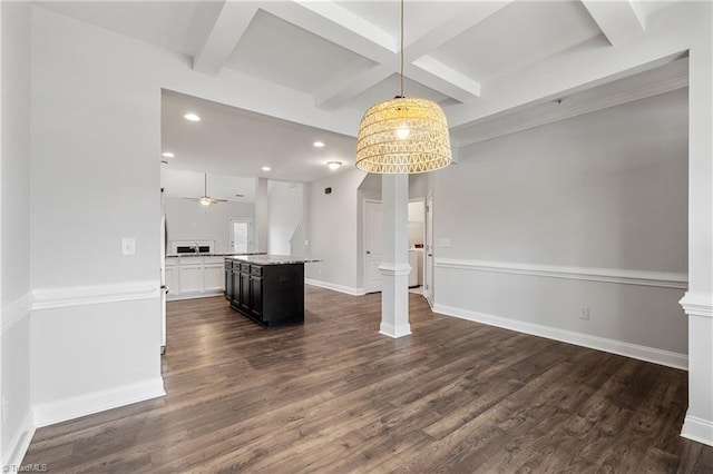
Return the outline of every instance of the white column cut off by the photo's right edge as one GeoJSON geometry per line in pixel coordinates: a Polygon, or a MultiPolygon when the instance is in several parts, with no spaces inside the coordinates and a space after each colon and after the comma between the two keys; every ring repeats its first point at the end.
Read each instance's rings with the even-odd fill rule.
{"type": "MultiPolygon", "coordinates": [[[[713,446],[713,6],[688,50],[688,409],[681,435],[713,446]]],[[[694,31],[697,31],[694,33],[694,31]]]]}

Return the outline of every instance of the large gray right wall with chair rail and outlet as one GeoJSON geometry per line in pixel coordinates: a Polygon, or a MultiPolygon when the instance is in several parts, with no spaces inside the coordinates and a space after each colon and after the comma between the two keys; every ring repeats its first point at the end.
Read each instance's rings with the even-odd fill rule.
{"type": "Polygon", "coordinates": [[[684,289],[657,286],[687,270],[686,89],[460,156],[432,177],[437,309],[686,354],[684,289]],[[484,261],[516,270],[489,271],[484,261]],[[629,283],[644,271],[655,285],[530,275],[531,265],[629,283]],[[579,318],[582,307],[590,319],[579,318]]]}

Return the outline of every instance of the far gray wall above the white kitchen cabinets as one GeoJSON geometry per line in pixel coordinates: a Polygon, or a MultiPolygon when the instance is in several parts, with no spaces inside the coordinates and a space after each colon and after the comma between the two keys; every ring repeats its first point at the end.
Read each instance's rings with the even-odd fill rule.
{"type": "Polygon", "coordinates": [[[166,198],[168,251],[174,240],[214,240],[216,253],[231,251],[231,218],[255,217],[252,203],[219,203],[202,206],[182,198],[166,198]]]}

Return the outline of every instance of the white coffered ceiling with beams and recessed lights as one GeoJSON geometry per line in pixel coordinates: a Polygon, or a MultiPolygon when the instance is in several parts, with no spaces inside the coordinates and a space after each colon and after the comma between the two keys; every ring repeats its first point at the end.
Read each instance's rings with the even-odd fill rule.
{"type": "MultiPolygon", "coordinates": [[[[557,82],[570,51],[636,40],[674,3],[408,0],[406,95],[439,102],[459,146],[684,87],[687,65],[670,66],[677,58],[668,58],[536,101],[518,99],[527,97],[522,91],[530,83],[541,83],[548,70],[550,82],[557,82]],[[656,72],[660,67],[664,72],[656,72]],[[642,73],[645,69],[651,75],[642,73]],[[563,97],[566,100],[554,107],[553,100],[563,97]],[[501,106],[494,107],[496,101],[501,106]]],[[[192,171],[198,178],[208,172],[311,181],[334,172],[325,166],[331,159],[342,161],[342,170],[351,169],[361,112],[399,93],[398,1],[36,4],[185,55],[197,72],[219,77],[232,71],[253,78],[263,95],[292,93],[301,103],[313,103],[283,113],[295,117],[291,122],[260,113],[258,107],[246,111],[164,91],[162,141],[164,150],[176,155],[164,169],[192,171]],[[186,111],[203,119],[187,122],[182,118],[186,111]],[[325,128],[349,135],[304,125],[314,124],[314,117],[325,128]],[[316,149],[315,140],[326,146],[316,149]],[[272,171],[261,171],[265,165],[272,171]]],[[[274,115],[274,107],[265,106],[267,110],[274,115]]],[[[202,180],[198,185],[203,187],[202,180]]]]}

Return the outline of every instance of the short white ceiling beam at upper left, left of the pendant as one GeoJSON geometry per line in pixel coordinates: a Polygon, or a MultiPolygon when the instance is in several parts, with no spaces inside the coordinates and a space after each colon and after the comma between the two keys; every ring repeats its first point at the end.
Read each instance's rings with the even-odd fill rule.
{"type": "Polygon", "coordinates": [[[205,42],[193,58],[193,69],[217,76],[256,11],[257,7],[252,2],[225,1],[205,42]]]}

